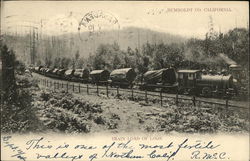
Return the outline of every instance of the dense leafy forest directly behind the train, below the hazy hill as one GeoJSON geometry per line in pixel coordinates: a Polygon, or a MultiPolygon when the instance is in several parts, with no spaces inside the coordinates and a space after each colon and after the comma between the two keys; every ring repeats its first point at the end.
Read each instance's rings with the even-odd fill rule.
{"type": "Polygon", "coordinates": [[[72,58],[46,60],[51,68],[118,69],[134,68],[138,73],[174,67],[176,69],[227,70],[230,64],[248,68],[249,30],[235,28],[226,34],[206,35],[204,40],[191,38],[180,43],[144,43],[141,48],[122,50],[117,42],[100,44],[88,57],[76,51],[72,58]]]}

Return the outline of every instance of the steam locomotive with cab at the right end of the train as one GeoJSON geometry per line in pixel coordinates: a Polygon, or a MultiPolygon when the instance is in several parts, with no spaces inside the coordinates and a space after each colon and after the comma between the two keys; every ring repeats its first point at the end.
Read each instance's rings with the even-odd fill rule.
{"type": "Polygon", "coordinates": [[[204,75],[200,70],[179,70],[180,93],[206,97],[232,96],[236,93],[231,75],[204,75]]]}

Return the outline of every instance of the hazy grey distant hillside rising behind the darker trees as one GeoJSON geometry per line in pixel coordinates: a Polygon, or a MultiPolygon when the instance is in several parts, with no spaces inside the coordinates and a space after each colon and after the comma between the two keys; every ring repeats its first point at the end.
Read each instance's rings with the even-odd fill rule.
{"type": "Polygon", "coordinates": [[[90,32],[71,33],[59,36],[35,35],[35,40],[31,40],[30,35],[6,36],[6,41],[10,47],[16,51],[16,56],[29,64],[30,45],[35,42],[36,57],[45,58],[48,53],[54,57],[72,57],[79,50],[80,57],[88,57],[89,53],[94,53],[100,44],[113,44],[117,42],[120,49],[126,50],[128,47],[135,49],[146,42],[150,44],[171,44],[186,41],[186,38],[170,33],[156,32],[144,28],[128,27],[121,30],[102,31],[101,33],[90,32]],[[38,36],[38,37],[36,37],[38,36]]]}

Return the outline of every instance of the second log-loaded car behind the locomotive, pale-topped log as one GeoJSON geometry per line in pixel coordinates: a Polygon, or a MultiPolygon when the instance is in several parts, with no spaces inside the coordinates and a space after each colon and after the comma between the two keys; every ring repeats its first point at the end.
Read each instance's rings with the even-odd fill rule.
{"type": "Polygon", "coordinates": [[[136,72],[132,68],[116,69],[110,73],[110,86],[132,88],[136,72]]]}

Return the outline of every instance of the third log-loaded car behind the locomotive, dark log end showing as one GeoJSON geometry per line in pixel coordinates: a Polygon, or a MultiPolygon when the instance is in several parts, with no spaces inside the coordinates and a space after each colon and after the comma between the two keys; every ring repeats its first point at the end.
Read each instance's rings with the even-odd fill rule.
{"type": "Polygon", "coordinates": [[[107,70],[93,70],[89,75],[91,83],[103,84],[108,81],[110,73],[107,70]]]}

